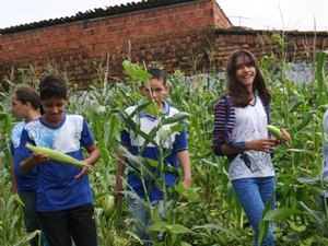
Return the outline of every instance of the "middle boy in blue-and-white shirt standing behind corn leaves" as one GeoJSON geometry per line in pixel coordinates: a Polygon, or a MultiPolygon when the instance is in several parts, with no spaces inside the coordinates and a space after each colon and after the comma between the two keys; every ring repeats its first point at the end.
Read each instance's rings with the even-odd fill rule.
{"type": "MultiPolygon", "coordinates": [[[[154,102],[157,110],[161,114],[164,114],[166,117],[174,116],[178,113],[178,109],[172,107],[167,102],[164,101],[164,97],[169,91],[169,86],[165,80],[165,73],[163,70],[159,68],[150,67],[148,69],[148,73],[152,75],[152,78],[148,81],[149,84],[140,85],[141,93],[148,98],[148,101],[154,102]]],[[[128,115],[133,114],[136,110],[136,106],[128,107],[126,113],[128,115]]],[[[147,110],[142,110],[137,113],[132,120],[136,124],[139,124],[140,130],[144,133],[150,133],[152,129],[154,129],[159,125],[157,116],[153,115],[152,113],[148,113],[147,110]]],[[[169,125],[164,125],[162,127],[163,130],[168,130],[169,125]]],[[[156,137],[153,139],[159,144],[160,136],[159,132],[156,137]]],[[[141,155],[147,159],[152,159],[159,162],[160,152],[159,150],[152,144],[149,143],[144,151],[140,153],[140,148],[143,145],[144,139],[134,132],[132,129],[122,130],[121,132],[121,144],[126,147],[131,154],[133,155],[141,155]]],[[[190,188],[191,186],[191,173],[190,173],[190,160],[189,160],[189,152],[188,152],[188,142],[187,142],[187,134],[186,129],[181,130],[180,132],[174,132],[169,136],[169,138],[164,143],[164,151],[171,150],[171,153],[165,156],[164,165],[172,165],[174,168],[178,168],[179,166],[184,173],[184,180],[183,184],[186,188],[190,188]]],[[[116,187],[115,187],[115,197],[116,200],[118,199],[119,192],[122,191],[122,176],[125,173],[126,163],[131,167],[128,172],[128,189],[133,190],[139,197],[139,199],[130,199],[130,210],[134,218],[139,221],[137,223],[137,233],[142,241],[148,241],[149,235],[147,233],[145,227],[151,224],[151,218],[147,208],[142,206],[142,200],[150,200],[151,204],[154,207],[157,203],[160,204],[160,210],[162,212],[162,218],[164,216],[164,208],[163,208],[163,191],[154,185],[154,181],[149,180],[148,178],[143,178],[141,180],[139,171],[133,166],[132,163],[129,163],[128,160],[119,155],[119,162],[117,166],[117,174],[116,174],[116,187]],[[148,195],[145,194],[143,184],[147,187],[148,195]],[[148,197],[147,197],[148,196],[148,197]]],[[[165,169],[165,168],[164,168],[165,169]]],[[[165,169],[164,171],[164,178],[165,178],[165,186],[166,190],[168,187],[176,185],[176,177],[173,172],[165,169]]],[[[155,175],[155,174],[153,174],[155,175]]],[[[159,180],[159,176],[154,177],[159,180]]],[[[169,194],[166,192],[168,196],[169,194]]]]}

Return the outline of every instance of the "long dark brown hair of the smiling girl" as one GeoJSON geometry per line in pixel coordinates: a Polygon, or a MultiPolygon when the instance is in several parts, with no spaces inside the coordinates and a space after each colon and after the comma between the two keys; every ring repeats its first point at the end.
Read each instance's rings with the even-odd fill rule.
{"type": "Polygon", "coordinates": [[[269,104],[272,98],[272,93],[266,85],[263,74],[258,67],[258,60],[251,52],[245,49],[233,51],[226,63],[226,90],[227,94],[232,97],[233,104],[237,107],[246,107],[249,103],[249,93],[243,84],[236,80],[236,60],[238,57],[247,57],[251,66],[255,67],[256,77],[253,83],[253,92],[257,91],[263,103],[269,104]]]}

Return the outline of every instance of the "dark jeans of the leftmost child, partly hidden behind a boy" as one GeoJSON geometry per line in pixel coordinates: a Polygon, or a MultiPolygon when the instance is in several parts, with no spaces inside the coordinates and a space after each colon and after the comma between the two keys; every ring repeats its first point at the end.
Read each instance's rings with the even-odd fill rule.
{"type": "MultiPolygon", "coordinates": [[[[19,190],[19,196],[24,203],[23,214],[27,233],[40,230],[39,216],[36,212],[36,190],[19,190]]],[[[37,246],[38,237],[32,238],[30,243],[32,246],[37,246]]],[[[43,245],[48,246],[45,236],[43,236],[43,245]]]]}

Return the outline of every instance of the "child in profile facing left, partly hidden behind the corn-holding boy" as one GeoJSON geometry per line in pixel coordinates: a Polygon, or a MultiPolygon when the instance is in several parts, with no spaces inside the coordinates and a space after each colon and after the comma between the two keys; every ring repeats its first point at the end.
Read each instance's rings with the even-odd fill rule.
{"type": "MultiPolygon", "coordinates": [[[[35,90],[27,85],[21,85],[17,87],[11,97],[11,110],[16,118],[23,118],[24,121],[17,122],[11,134],[11,191],[19,194],[24,206],[22,206],[24,222],[27,233],[32,233],[36,230],[40,230],[39,219],[36,212],[36,184],[37,174],[36,169],[30,175],[24,175],[21,172],[21,159],[16,153],[20,147],[21,136],[23,128],[30,121],[33,121],[39,117],[39,98],[35,90]]],[[[38,245],[38,237],[34,237],[30,241],[31,246],[38,245]]],[[[46,246],[46,242],[44,242],[46,246]]]]}

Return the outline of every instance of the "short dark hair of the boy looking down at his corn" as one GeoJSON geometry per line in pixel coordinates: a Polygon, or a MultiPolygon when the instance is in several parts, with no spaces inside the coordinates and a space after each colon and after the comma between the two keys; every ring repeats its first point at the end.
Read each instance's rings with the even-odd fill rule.
{"type": "Polygon", "coordinates": [[[67,97],[67,84],[60,75],[47,75],[39,83],[39,98],[40,101],[57,97],[67,97]]]}

